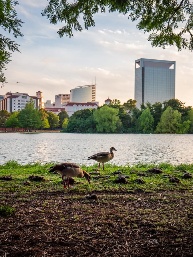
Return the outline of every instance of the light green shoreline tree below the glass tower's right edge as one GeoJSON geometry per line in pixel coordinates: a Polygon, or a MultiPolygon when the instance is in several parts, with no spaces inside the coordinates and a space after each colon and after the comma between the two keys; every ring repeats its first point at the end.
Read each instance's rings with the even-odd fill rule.
{"type": "Polygon", "coordinates": [[[158,133],[176,133],[178,124],[181,123],[181,113],[178,110],[173,110],[168,106],[166,111],[162,113],[160,122],[158,122],[156,132],[158,133]]]}

